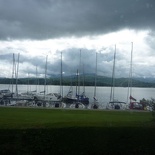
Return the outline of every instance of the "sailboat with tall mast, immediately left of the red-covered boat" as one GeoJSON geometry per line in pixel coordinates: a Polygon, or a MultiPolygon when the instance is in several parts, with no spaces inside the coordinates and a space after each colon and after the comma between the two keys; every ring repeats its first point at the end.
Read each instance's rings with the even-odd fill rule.
{"type": "Polygon", "coordinates": [[[116,45],[115,45],[115,50],[114,50],[114,62],[113,62],[113,70],[112,70],[110,102],[107,103],[107,109],[125,109],[126,107],[125,102],[115,100],[115,65],[116,65],[116,45]]]}

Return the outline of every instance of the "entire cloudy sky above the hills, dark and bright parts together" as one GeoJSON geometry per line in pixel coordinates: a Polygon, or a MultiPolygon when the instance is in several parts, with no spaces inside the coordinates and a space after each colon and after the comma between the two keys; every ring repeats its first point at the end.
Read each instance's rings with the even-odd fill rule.
{"type": "Polygon", "coordinates": [[[155,77],[154,0],[0,0],[0,77],[12,76],[13,53],[19,77],[60,74],[128,77],[131,42],[133,76],[155,77]],[[80,59],[81,51],[81,59],[80,59]],[[79,65],[81,62],[81,65],[79,65]]]}

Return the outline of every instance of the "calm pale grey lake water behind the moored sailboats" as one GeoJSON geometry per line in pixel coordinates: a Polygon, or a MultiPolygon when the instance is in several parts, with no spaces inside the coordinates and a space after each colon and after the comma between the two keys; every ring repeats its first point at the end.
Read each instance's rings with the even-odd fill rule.
{"type": "MultiPolygon", "coordinates": [[[[63,86],[63,96],[65,96],[69,91],[70,86],[63,86]]],[[[1,89],[10,89],[12,90],[11,85],[0,84],[1,89]]],[[[15,86],[13,87],[15,91],[15,86]]],[[[37,90],[37,92],[43,91],[44,86],[35,86],[35,85],[18,85],[19,92],[33,91],[37,90]]],[[[59,93],[60,86],[52,86],[49,85],[46,87],[47,93],[59,93]]],[[[73,87],[74,93],[76,92],[76,87],[73,87]]],[[[109,102],[111,87],[97,87],[96,88],[96,97],[101,104],[106,104],[109,102]]],[[[83,87],[80,87],[80,93],[83,92],[83,87]]],[[[90,102],[93,101],[94,96],[94,87],[85,87],[86,96],[89,97],[90,102]]],[[[116,87],[115,88],[115,99],[123,102],[127,102],[127,87],[116,87]]],[[[155,88],[132,88],[132,96],[137,100],[142,98],[151,99],[155,98],[155,88]]]]}

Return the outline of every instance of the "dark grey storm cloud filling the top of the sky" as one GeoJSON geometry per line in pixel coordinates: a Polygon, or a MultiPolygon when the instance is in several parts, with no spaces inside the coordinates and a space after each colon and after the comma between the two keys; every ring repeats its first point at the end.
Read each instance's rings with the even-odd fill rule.
{"type": "Polygon", "coordinates": [[[0,38],[48,39],[155,27],[154,0],[0,0],[0,38]]]}

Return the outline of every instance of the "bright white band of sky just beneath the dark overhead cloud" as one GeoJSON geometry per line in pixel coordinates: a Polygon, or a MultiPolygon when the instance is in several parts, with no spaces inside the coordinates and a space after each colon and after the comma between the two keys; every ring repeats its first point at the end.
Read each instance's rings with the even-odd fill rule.
{"type": "MultiPolygon", "coordinates": [[[[30,56],[36,55],[48,55],[57,51],[66,50],[69,48],[83,48],[83,49],[95,49],[96,51],[103,50],[102,48],[109,48],[115,44],[119,49],[124,49],[125,46],[130,46],[130,43],[135,44],[135,51],[141,52],[142,49],[147,49],[148,46],[145,39],[148,35],[148,31],[134,31],[134,30],[122,30],[106,35],[98,36],[85,36],[81,38],[69,37],[60,39],[49,39],[42,41],[32,40],[16,40],[16,41],[3,41],[0,42],[1,50],[8,48],[14,50],[15,53],[25,53],[30,56]]],[[[9,52],[9,51],[7,51],[9,52]]],[[[106,50],[104,51],[106,52],[106,50]]],[[[148,53],[147,50],[143,50],[143,54],[148,53]]]]}

